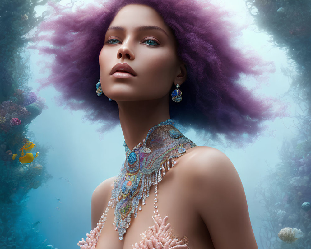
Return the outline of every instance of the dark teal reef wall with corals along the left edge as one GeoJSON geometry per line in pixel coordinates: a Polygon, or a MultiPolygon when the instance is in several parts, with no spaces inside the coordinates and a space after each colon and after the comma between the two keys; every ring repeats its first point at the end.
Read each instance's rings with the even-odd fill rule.
{"type": "Polygon", "coordinates": [[[28,192],[52,178],[45,169],[48,147],[35,141],[40,150],[35,162],[22,165],[12,160],[12,151],[30,138],[28,125],[46,108],[44,99],[27,87],[31,78],[25,55],[27,34],[44,18],[36,15],[35,7],[46,2],[0,1],[0,239],[6,249],[48,245],[38,226],[24,216],[28,192]]]}

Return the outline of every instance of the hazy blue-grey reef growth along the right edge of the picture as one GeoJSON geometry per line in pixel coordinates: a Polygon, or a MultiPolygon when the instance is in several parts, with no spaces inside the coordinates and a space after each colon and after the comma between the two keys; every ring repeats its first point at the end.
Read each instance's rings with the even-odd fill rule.
{"type": "Polygon", "coordinates": [[[281,68],[292,80],[287,95],[300,108],[295,114],[298,122],[294,125],[294,138],[284,138],[280,162],[258,188],[266,210],[262,215],[261,243],[263,248],[270,249],[308,249],[311,248],[308,204],[311,201],[311,2],[247,0],[246,5],[258,28],[270,35],[276,47],[286,51],[293,68],[281,68]],[[285,229],[291,227],[301,230],[304,236],[294,239],[293,233],[285,229]],[[293,244],[282,242],[277,237],[280,231],[283,241],[293,244]]]}

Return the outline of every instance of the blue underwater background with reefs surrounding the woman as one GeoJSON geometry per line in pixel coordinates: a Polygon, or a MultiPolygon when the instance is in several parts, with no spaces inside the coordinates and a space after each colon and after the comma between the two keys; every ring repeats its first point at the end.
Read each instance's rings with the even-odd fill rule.
{"type": "MultiPolygon", "coordinates": [[[[37,91],[49,62],[27,45],[33,29],[48,16],[46,2],[0,2],[1,248],[78,248],[92,229],[93,190],[118,173],[124,158],[120,126],[99,133],[100,124],[84,120],[82,111],[64,109],[56,90],[37,91]],[[33,161],[22,164],[19,158],[33,161]]],[[[275,72],[262,76],[267,84],[248,77],[243,84],[286,103],[287,116],[266,122],[261,136],[241,148],[206,141],[193,130],[185,136],[220,149],[233,162],[258,248],[311,248],[311,1],[214,2],[244,26],[235,45],[253,48],[274,63],[275,72]],[[281,240],[283,228],[293,229],[282,230],[281,240]]],[[[230,209],[230,203],[223,204],[230,209]]]]}

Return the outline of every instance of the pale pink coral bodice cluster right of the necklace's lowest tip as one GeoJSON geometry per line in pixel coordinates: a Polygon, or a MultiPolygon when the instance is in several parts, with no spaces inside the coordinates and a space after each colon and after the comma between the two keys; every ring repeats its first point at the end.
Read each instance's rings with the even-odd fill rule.
{"type": "Polygon", "coordinates": [[[188,248],[188,239],[183,237],[182,239],[173,235],[173,228],[168,223],[165,224],[168,216],[164,219],[159,214],[152,217],[156,223],[150,227],[146,232],[142,233],[142,241],[132,245],[133,249],[182,249],[188,248]]]}

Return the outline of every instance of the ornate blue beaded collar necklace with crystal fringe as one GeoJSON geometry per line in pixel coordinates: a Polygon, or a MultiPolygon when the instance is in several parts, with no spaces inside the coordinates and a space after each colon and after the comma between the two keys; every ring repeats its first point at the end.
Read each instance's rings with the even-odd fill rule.
{"type": "MultiPolygon", "coordinates": [[[[190,139],[174,127],[173,121],[168,119],[152,127],[143,143],[130,150],[126,143],[125,162],[114,181],[111,201],[108,207],[114,210],[115,230],[119,232],[119,239],[123,239],[126,229],[130,226],[131,214],[137,217],[137,211],[142,210],[149,196],[151,185],[157,185],[174,166],[177,157],[182,156],[187,149],[197,146],[190,139]]],[[[108,208],[109,210],[109,208],[108,208]]]]}

